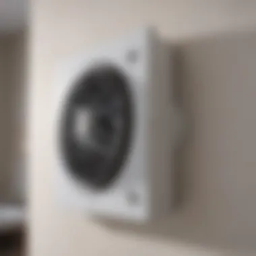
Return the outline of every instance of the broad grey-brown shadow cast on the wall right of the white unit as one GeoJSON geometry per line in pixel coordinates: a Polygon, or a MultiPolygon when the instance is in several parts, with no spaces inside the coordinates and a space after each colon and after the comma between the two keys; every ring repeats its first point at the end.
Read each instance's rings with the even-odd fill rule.
{"type": "Polygon", "coordinates": [[[202,247],[256,250],[256,32],[179,42],[175,94],[193,118],[177,160],[179,205],[150,226],[102,221],[202,247]]]}

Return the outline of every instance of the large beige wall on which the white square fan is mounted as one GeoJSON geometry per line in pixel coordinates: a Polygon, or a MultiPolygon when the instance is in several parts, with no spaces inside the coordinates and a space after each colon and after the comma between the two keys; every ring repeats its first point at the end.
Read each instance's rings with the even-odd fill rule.
{"type": "Polygon", "coordinates": [[[256,3],[32,2],[31,255],[255,255],[256,3]],[[176,82],[193,120],[177,181],[181,205],[144,228],[62,212],[54,200],[53,68],[143,24],[155,24],[177,48],[176,82]]]}

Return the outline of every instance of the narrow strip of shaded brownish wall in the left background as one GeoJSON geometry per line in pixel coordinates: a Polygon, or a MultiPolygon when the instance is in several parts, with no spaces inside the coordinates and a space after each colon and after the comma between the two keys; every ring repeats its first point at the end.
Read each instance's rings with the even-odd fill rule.
{"type": "Polygon", "coordinates": [[[24,133],[25,33],[0,35],[0,201],[23,201],[24,156],[20,142],[24,133]]]}

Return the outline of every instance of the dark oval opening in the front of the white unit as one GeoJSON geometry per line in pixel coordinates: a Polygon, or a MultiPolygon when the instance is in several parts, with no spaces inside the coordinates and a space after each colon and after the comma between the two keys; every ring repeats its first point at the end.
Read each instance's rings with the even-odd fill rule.
{"type": "Polygon", "coordinates": [[[131,95],[115,67],[93,69],[73,84],[61,118],[61,152],[69,173],[94,187],[117,177],[131,138],[131,95]]]}

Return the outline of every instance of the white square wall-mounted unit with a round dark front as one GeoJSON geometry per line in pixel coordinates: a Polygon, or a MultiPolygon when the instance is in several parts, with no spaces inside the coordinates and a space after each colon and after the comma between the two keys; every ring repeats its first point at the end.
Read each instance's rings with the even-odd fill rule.
{"type": "Polygon", "coordinates": [[[147,28],[59,66],[56,187],[67,207],[138,222],[170,211],[176,119],[169,50],[147,28]]]}

